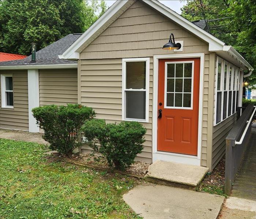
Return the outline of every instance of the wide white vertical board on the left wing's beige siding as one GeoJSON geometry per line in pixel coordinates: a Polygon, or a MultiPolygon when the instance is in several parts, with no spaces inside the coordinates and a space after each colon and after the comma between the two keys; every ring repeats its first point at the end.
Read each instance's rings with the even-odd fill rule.
{"type": "Polygon", "coordinates": [[[39,132],[32,109],[39,106],[39,73],[38,69],[27,70],[27,85],[29,95],[29,132],[39,132]]]}

